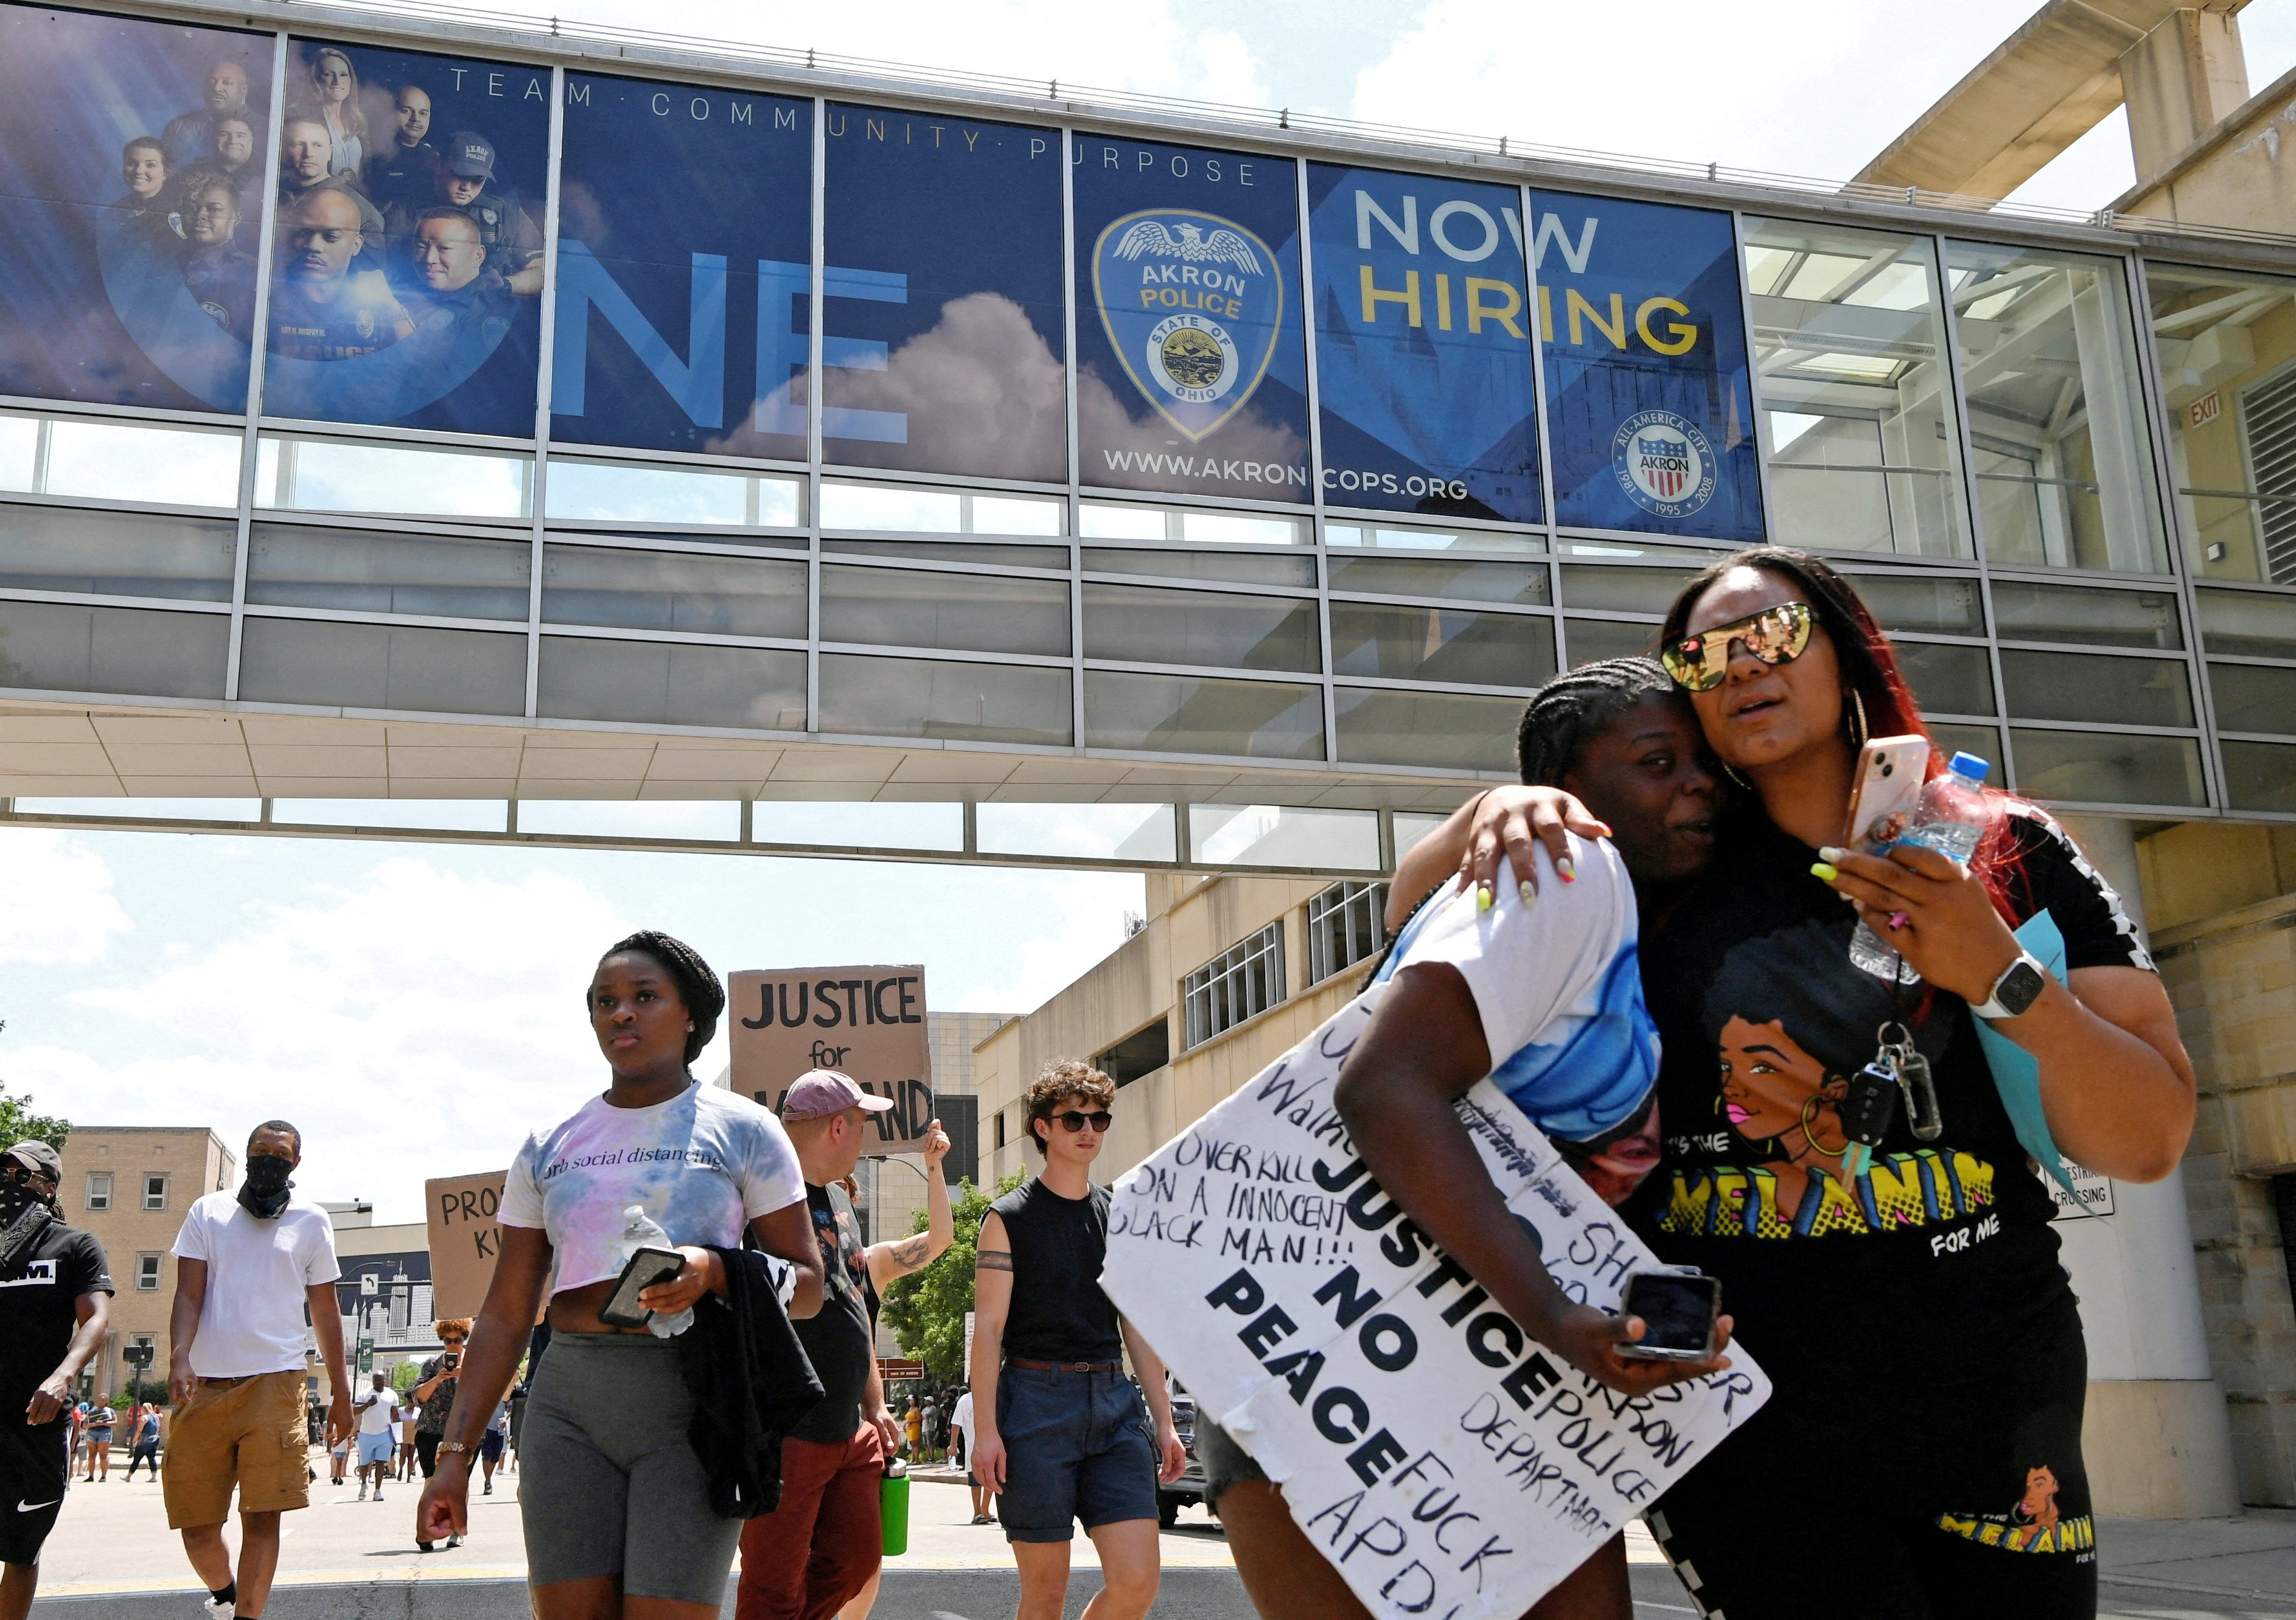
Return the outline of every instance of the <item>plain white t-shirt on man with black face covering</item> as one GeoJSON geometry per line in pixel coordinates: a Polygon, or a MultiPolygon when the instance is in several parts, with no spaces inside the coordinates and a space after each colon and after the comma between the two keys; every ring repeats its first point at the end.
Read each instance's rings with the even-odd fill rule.
{"type": "Polygon", "coordinates": [[[303,1370],[303,1290],[342,1276],[326,1209],[289,1198],[257,1221],[225,1189],[193,1200],[174,1235],[177,1260],[207,1262],[191,1370],[202,1379],[303,1370]]]}

